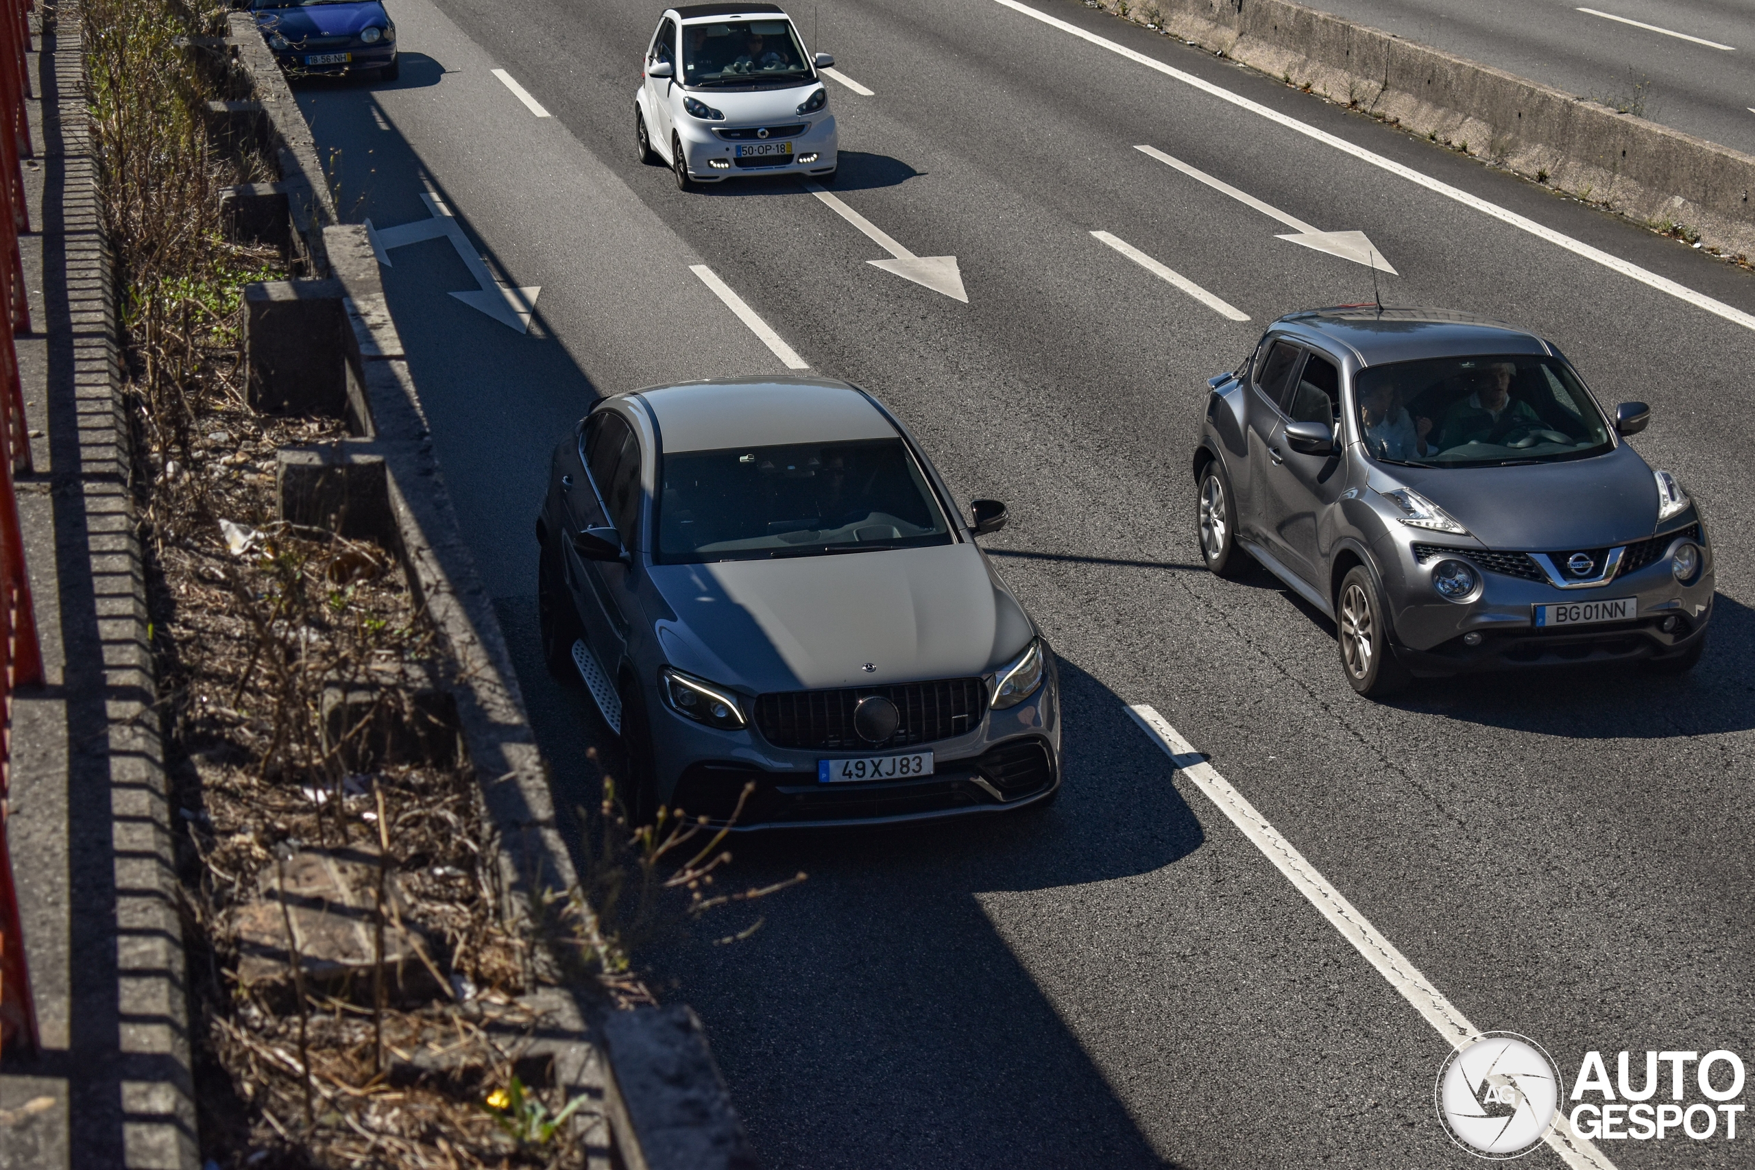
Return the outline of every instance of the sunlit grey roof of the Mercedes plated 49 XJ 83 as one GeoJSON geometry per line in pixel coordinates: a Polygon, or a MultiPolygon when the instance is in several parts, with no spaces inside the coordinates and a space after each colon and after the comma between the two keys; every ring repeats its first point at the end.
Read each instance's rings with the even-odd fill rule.
{"type": "Polygon", "coordinates": [[[895,439],[863,391],[830,379],[716,377],[634,391],[658,421],[663,451],[895,439]]]}

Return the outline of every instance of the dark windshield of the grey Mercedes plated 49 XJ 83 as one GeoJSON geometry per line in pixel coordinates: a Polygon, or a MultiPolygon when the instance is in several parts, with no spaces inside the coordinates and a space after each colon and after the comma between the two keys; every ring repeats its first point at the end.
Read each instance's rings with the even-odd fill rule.
{"type": "Polygon", "coordinates": [[[949,542],[944,512],[900,439],[663,456],[662,561],[949,542]]]}

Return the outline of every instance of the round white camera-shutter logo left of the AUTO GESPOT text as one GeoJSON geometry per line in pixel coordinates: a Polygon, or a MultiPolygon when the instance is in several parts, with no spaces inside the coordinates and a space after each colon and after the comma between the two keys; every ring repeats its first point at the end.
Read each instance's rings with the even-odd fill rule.
{"type": "Polygon", "coordinates": [[[1488,1031],[1437,1070],[1439,1121],[1478,1158],[1522,1158],[1548,1135],[1560,1105],[1560,1070],[1539,1044],[1488,1031]]]}

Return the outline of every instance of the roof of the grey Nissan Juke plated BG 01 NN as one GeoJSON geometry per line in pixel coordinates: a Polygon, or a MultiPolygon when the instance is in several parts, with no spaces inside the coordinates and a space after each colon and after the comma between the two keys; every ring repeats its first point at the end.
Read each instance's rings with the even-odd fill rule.
{"type": "Polygon", "coordinates": [[[1344,346],[1353,351],[1360,365],[1471,354],[1555,353],[1553,346],[1529,330],[1455,309],[1337,305],[1293,312],[1274,325],[1302,326],[1292,332],[1309,330],[1330,344],[1344,346]]]}

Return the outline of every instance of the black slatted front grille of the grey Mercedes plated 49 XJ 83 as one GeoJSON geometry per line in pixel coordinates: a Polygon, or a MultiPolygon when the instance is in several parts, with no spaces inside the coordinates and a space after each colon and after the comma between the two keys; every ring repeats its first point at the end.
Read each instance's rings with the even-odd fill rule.
{"type": "Polygon", "coordinates": [[[981,679],[758,695],[756,728],[776,747],[837,751],[906,747],[972,731],[986,714],[986,682],[981,679]],[[878,744],[862,740],[853,730],[853,709],[867,695],[883,695],[902,716],[895,735],[878,744]]]}

